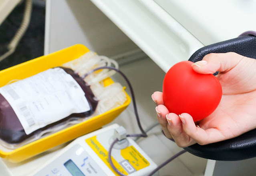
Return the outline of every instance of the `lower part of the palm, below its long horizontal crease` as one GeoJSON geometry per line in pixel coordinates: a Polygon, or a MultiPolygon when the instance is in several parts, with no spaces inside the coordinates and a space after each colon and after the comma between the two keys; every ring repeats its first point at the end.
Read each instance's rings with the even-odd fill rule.
{"type": "Polygon", "coordinates": [[[199,122],[203,129],[216,128],[222,136],[213,138],[230,139],[256,127],[253,120],[255,110],[256,92],[236,95],[223,95],[218,108],[207,118],[199,122]]]}

